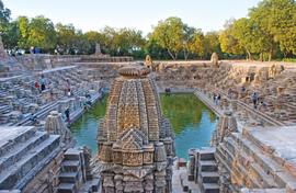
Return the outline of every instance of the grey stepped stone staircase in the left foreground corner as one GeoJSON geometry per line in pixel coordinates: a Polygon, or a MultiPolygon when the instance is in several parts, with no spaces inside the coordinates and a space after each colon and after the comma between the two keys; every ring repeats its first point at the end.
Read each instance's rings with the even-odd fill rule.
{"type": "Polygon", "coordinates": [[[0,190],[22,190],[60,151],[59,136],[0,127],[0,190]]]}

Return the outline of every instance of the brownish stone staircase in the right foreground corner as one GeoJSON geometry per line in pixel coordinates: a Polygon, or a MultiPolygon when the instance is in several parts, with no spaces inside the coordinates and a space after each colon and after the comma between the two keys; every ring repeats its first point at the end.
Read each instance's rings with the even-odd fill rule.
{"type": "MultiPolygon", "coordinates": [[[[270,128],[265,129],[267,130],[270,128]]],[[[239,186],[250,189],[274,188],[296,191],[296,166],[293,167],[289,160],[285,160],[286,156],[293,158],[295,155],[289,154],[288,149],[281,149],[284,136],[280,133],[281,129],[277,130],[272,128],[270,134],[261,135],[261,130],[258,129],[255,132],[264,138],[259,139],[253,136],[252,132],[244,129],[242,134],[232,133],[220,143],[215,157],[219,162],[219,167],[224,169],[230,178],[229,180],[231,180],[232,184],[236,184],[230,185],[229,189],[235,190],[235,192],[239,192],[239,186]],[[269,136],[272,136],[270,134],[273,130],[274,138],[267,139],[269,136]],[[277,137],[281,139],[281,144],[278,144],[277,147],[280,151],[283,150],[282,155],[278,154],[280,151],[274,154],[274,147],[264,144],[266,141],[276,143],[277,137]]],[[[294,130],[286,128],[286,133],[288,132],[293,133],[294,130]]],[[[288,134],[284,135],[288,136],[288,134]]]]}

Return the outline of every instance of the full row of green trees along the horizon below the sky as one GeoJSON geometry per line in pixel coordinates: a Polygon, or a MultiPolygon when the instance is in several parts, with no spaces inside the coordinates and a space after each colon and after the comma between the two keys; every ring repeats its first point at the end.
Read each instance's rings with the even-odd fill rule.
{"type": "Polygon", "coordinates": [[[105,26],[82,32],[72,24],[54,24],[49,19],[19,16],[0,0],[0,33],[7,49],[39,47],[42,53],[93,54],[95,44],[103,54],[156,59],[219,58],[283,59],[296,57],[295,0],[262,0],[248,16],[228,20],[225,27],[204,33],[180,18],[159,21],[147,36],[136,29],[105,26]]]}

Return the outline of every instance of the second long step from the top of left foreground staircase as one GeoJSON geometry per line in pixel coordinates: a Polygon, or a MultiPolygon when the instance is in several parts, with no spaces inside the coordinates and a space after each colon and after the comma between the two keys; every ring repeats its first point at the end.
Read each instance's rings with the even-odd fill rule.
{"type": "Polygon", "coordinates": [[[15,146],[13,149],[10,149],[5,155],[1,155],[0,157],[0,173],[5,168],[12,166],[14,162],[18,162],[27,151],[32,148],[38,146],[38,144],[43,143],[46,138],[48,138],[48,134],[46,132],[36,132],[34,136],[29,138],[24,143],[20,143],[19,146],[15,146]]]}

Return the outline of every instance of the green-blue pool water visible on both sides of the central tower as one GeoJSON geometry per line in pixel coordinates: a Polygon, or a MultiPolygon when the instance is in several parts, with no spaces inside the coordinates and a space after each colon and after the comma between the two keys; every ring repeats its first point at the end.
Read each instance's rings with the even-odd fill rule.
{"type": "MultiPolygon", "coordinates": [[[[175,135],[178,157],[186,158],[189,148],[209,145],[217,117],[194,94],[161,94],[160,101],[161,111],[170,121],[175,135]]],[[[105,106],[106,96],[71,125],[77,146],[87,145],[93,154],[96,152],[96,129],[100,118],[105,114],[105,106]]]]}

